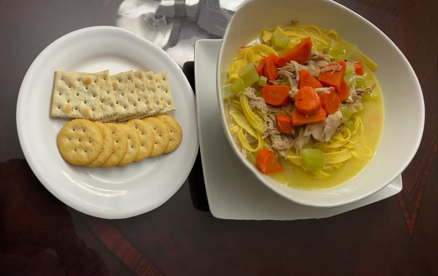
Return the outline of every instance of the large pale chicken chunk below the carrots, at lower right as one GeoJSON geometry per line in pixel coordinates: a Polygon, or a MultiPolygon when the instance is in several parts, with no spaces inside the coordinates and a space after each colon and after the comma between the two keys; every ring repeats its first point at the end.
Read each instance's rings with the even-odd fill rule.
{"type": "Polygon", "coordinates": [[[335,134],[336,129],[341,125],[342,119],[342,113],[338,110],[327,116],[324,122],[308,124],[304,135],[312,135],[315,140],[328,142],[332,135],[335,134]]]}

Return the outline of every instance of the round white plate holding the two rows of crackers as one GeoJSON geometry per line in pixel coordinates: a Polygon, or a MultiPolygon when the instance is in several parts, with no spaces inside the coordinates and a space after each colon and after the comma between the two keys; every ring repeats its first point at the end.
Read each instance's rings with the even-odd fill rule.
{"type": "Polygon", "coordinates": [[[119,219],[165,203],[184,183],[198,152],[193,91],[180,67],[144,38],[121,28],[99,26],[71,32],[47,46],[30,66],[17,102],[17,129],[26,160],[39,181],[62,202],[83,213],[119,219]],[[68,164],[57,136],[68,119],[50,117],[55,70],[110,74],[127,70],[167,71],[183,129],[177,150],[124,167],[68,164]]]}

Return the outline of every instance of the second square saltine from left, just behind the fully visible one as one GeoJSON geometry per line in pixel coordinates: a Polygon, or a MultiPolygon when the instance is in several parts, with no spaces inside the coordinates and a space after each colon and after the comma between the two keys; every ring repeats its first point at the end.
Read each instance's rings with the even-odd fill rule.
{"type": "Polygon", "coordinates": [[[96,74],[102,74],[99,95],[99,119],[102,119],[117,114],[117,106],[114,98],[114,91],[111,88],[111,77],[109,77],[109,70],[100,71],[96,74]]]}

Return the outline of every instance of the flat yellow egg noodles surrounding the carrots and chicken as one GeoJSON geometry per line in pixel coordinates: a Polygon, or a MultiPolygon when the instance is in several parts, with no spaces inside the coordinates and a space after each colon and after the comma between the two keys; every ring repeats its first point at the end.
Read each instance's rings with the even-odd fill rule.
{"type": "MultiPolygon", "coordinates": [[[[245,48],[240,49],[233,63],[228,70],[228,78],[226,84],[234,83],[235,79],[240,79],[240,69],[246,66],[248,63],[257,64],[263,57],[268,57],[270,54],[280,56],[283,52],[286,52],[293,48],[295,45],[301,42],[304,38],[311,37],[313,47],[318,44],[322,45],[335,45],[339,49],[343,49],[347,59],[360,60],[364,67],[370,71],[374,71],[377,65],[369,58],[367,58],[362,52],[358,51],[356,46],[347,44],[342,39],[336,30],[329,29],[327,31],[322,30],[314,25],[292,25],[281,28],[276,26],[272,30],[263,30],[261,34],[248,43],[245,48]],[[290,42],[285,49],[278,49],[276,47],[270,47],[266,45],[270,41],[274,31],[279,31],[281,34],[290,38],[290,42]],[[261,43],[261,44],[260,44],[261,43]],[[277,49],[277,50],[276,50],[277,49]]],[[[256,95],[261,95],[261,89],[256,91],[256,95]]],[[[248,96],[240,93],[235,96],[226,98],[226,115],[229,122],[229,129],[233,137],[240,148],[244,148],[246,152],[251,154],[247,155],[247,159],[251,163],[255,163],[254,156],[263,147],[267,147],[272,150],[276,156],[279,156],[278,152],[272,148],[272,145],[268,139],[263,139],[265,125],[264,119],[266,114],[263,114],[258,108],[251,109],[248,105],[248,96]]],[[[292,112],[281,109],[276,114],[289,114],[292,112]]],[[[347,128],[345,125],[342,127],[339,133],[331,136],[328,142],[320,142],[317,140],[311,140],[304,145],[304,148],[318,148],[324,155],[324,166],[318,170],[307,170],[303,167],[303,157],[300,156],[298,150],[291,148],[284,159],[297,166],[301,166],[304,170],[311,171],[316,178],[326,178],[330,173],[343,165],[343,162],[361,156],[371,157],[373,151],[367,145],[360,145],[358,138],[364,135],[364,126],[360,118],[360,110],[351,115],[351,120],[354,123],[354,127],[347,128]],[[351,130],[352,129],[352,130],[351,130]],[[357,151],[357,147],[362,149],[357,151]]],[[[255,165],[255,164],[254,164],[255,165]]]]}

